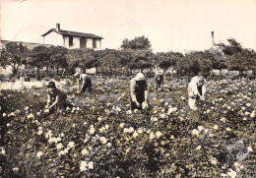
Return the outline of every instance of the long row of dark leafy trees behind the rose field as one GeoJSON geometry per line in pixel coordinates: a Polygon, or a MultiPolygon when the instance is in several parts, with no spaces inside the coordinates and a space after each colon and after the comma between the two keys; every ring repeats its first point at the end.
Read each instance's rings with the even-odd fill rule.
{"type": "Polygon", "coordinates": [[[256,70],[256,52],[243,48],[233,38],[227,39],[228,44],[216,44],[217,47],[204,51],[158,52],[152,51],[152,45],[148,37],[139,36],[134,39],[123,39],[121,49],[67,49],[62,46],[43,45],[28,49],[22,43],[9,42],[0,56],[0,65],[11,65],[14,74],[17,75],[19,67],[24,64],[27,67],[37,69],[37,78],[40,78],[39,70],[49,68],[65,68],[74,74],[74,68],[82,70],[96,67],[97,72],[103,75],[130,75],[133,69],[149,69],[152,74],[156,66],[165,72],[169,67],[177,71],[178,76],[191,76],[198,72],[206,75],[212,69],[228,69],[237,71],[256,70]]]}

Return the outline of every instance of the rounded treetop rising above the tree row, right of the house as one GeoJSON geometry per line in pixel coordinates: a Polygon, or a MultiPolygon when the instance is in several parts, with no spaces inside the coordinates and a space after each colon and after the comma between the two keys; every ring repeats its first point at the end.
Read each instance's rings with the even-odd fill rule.
{"type": "Polygon", "coordinates": [[[151,42],[148,37],[139,36],[135,37],[132,40],[128,40],[127,38],[123,39],[121,44],[122,49],[146,49],[151,50],[151,42]]]}

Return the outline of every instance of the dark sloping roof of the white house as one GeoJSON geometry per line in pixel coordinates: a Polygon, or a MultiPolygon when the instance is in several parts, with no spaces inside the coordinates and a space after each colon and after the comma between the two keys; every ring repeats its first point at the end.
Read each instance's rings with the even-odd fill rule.
{"type": "Polygon", "coordinates": [[[96,34],[92,33],[84,33],[84,32],[76,32],[76,31],[71,31],[71,30],[56,30],[56,29],[51,29],[48,30],[47,32],[43,33],[41,36],[45,36],[51,31],[57,32],[62,35],[72,35],[72,36],[79,36],[79,37],[91,37],[91,38],[97,38],[97,39],[103,39],[103,37],[100,37],[96,34]]]}

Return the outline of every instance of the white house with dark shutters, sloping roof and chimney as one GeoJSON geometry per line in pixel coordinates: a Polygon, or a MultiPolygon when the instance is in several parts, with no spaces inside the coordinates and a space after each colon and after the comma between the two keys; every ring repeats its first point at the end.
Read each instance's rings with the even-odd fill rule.
{"type": "Polygon", "coordinates": [[[56,29],[51,29],[41,35],[43,43],[64,46],[68,49],[101,49],[102,37],[92,34],[71,30],[60,30],[60,24],[56,29]]]}

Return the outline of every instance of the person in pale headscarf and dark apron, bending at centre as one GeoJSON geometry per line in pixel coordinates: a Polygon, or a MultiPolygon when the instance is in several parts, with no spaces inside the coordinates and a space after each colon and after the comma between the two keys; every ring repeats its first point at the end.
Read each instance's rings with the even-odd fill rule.
{"type": "Polygon", "coordinates": [[[138,73],[130,84],[130,109],[141,110],[148,105],[148,84],[143,73],[138,73]]]}

